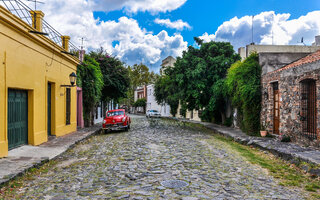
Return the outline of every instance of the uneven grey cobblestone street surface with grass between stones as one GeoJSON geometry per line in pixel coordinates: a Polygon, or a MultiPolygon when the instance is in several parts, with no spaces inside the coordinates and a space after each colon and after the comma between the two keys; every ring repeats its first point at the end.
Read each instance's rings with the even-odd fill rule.
{"type": "Polygon", "coordinates": [[[133,117],[129,132],[97,135],[24,184],[21,199],[304,199],[228,145],[177,122],[133,117]],[[174,124],[175,123],[175,124],[174,124]],[[162,186],[182,180],[182,188],[162,186]]]}

